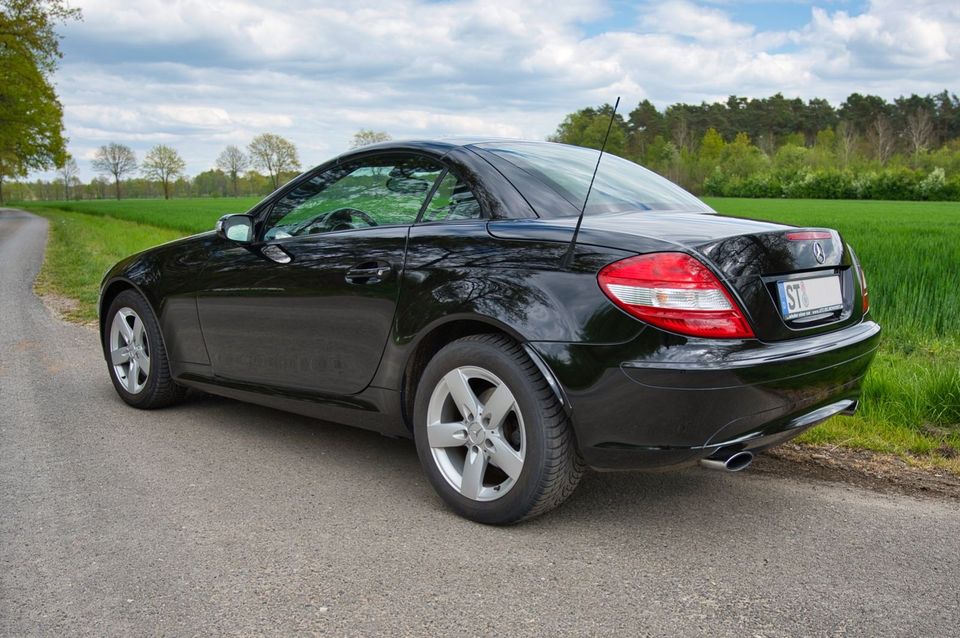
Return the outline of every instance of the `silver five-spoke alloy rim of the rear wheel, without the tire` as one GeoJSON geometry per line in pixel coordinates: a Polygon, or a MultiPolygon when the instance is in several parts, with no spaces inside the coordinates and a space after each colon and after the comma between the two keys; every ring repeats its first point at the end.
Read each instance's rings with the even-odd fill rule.
{"type": "Polygon", "coordinates": [[[427,443],[437,468],[457,492],[494,501],[520,478],[527,437],[507,384],[489,370],[451,370],[430,395],[427,443]]]}

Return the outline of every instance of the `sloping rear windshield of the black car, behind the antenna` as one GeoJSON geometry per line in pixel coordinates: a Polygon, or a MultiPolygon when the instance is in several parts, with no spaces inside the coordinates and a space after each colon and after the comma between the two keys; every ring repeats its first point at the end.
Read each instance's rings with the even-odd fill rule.
{"type": "MultiPolygon", "coordinates": [[[[478,147],[530,173],[578,210],[583,206],[598,151],[545,142],[485,142],[478,147]]],[[[713,212],[673,182],[616,155],[604,154],[586,214],[636,210],[713,212]]]]}

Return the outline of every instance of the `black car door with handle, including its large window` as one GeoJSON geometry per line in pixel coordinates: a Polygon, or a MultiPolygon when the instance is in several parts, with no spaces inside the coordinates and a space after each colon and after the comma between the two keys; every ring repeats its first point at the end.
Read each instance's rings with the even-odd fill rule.
{"type": "Polygon", "coordinates": [[[363,390],[390,335],[410,226],[442,170],[410,155],[335,165],[277,198],[260,241],[218,240],[197,296],[214,376],[363,390]]]}

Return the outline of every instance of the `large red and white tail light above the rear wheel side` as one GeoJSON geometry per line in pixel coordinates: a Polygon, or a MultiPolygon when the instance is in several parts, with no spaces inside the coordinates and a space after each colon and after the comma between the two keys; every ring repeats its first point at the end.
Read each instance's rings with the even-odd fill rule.
{"type": "Polygon", "coordinates": [[[605,266],[597,280],[617,306],[664,330],[693,337],[753,337],[727,289],[690,255],[630,257],[605,266]]]}

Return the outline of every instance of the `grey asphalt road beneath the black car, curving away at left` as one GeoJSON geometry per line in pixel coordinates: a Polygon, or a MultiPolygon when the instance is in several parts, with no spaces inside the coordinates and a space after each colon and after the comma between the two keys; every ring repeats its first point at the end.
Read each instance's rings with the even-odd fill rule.
{"type": "Polygon", "coordinates": [[[0,211],[0,635],[960,635],[956,501],[590,474],[506,529],[410,442],[242,403],[126,407],[0,211]]]}

